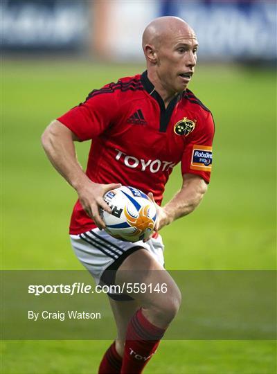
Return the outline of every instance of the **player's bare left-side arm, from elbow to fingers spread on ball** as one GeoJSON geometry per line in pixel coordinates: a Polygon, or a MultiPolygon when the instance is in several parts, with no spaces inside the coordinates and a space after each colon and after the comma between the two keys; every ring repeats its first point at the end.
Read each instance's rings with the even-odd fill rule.
{"type": "Polygon", "coordinates": [[[99,208],[102,207],[109,213],[111,209],[102,197],[107,191],[120,187],[120,184],[97,184],[87,177],[75,154],[73,142],[78,140],[68,127],[57,120],[53,121],[42,134],[42,146],[48,159],[76,190],[87,214],[100,228],[104,228],[105,224],[99,215],[99,208]]]}

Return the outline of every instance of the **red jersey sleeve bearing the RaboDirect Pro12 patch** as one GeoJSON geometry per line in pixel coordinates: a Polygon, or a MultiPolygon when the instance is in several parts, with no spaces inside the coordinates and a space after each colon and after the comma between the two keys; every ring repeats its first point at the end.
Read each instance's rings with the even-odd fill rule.
{"type": "Polygon", "coordinates": [[[215,125],[211,112],[196,123],[195,130],[188,136],[181,159],[182,174],[200,175],[206,183],[210,182],[213,161],[213,136],[215,125]]]}

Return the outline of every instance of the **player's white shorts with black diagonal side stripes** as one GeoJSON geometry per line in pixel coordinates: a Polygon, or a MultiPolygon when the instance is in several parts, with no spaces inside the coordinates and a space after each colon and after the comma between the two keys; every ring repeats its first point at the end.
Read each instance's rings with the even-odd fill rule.
{"type": "Polygon", "coordinates": [[[106,231],[96,228],[79,235],[70,235],[70,238],[75,255],[89,270],[96,284],[102,281],[105,270],[112,269],[116,273],[123,260],[141,247],[147,249],[162,267],[164,265],[161,235],[145,243],[142,240],[132,243],[113,238],[106,231]]]}

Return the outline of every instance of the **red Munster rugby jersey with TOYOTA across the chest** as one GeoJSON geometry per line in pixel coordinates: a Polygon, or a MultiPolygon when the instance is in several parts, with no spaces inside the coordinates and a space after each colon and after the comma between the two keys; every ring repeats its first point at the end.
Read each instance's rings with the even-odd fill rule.
{"type": "MultiPolygon", "coordinates": [[[[152,192],[161,204],[172,168],[210,181],[214,123],[211,112],[186,89],[167,108],[147,71],[91,91],[84,103],[57,118],[81,141],[91,139],[87,176],[152,192]]],[[[96,227],[76,202],[70,233],[96,227]]]]}

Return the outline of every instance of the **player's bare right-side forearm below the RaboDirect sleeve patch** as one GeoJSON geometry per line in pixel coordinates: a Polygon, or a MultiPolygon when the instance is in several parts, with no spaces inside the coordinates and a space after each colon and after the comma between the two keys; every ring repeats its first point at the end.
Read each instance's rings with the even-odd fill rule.
{"type": "MultiPolygon", "coordinates": [[[[159,221],[155,231],[159,231],[163,226],[170,224],[177,218],[193,212],[204,197],[206,190],[207,185],[202,177],[194,174],[184,174],[181,190],[168,204],[163,207],[157,206],[159,221]]],[[[150,194],[150,197],[153,198],[153,195],[150,194]]]]}

